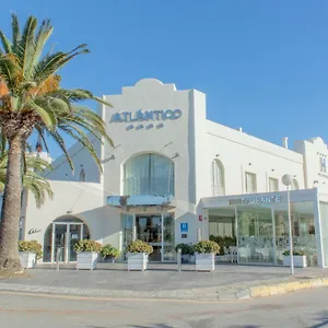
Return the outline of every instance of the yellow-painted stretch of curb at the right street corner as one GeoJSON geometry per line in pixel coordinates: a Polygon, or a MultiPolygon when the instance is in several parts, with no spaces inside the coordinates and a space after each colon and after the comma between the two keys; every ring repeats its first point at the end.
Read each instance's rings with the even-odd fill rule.
{"type": "Polygon", "coordinates": [[[306,279],[300,281],[265,284],[242,290],[236,293],[236,300],[250,300],[292,293],[318,286],[327,286],[328,278],[306,279]]]}

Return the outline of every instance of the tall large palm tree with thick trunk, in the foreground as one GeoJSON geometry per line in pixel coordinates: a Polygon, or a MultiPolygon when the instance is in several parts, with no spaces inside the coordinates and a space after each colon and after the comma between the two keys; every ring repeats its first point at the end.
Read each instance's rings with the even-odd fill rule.
{"type": "MultiPolygon", "coordinates": [[[[8,142],[8,166],[0,223],[0,269],[20,271],[17,254],[19,218],[21,210],[23,150],[33,132],[38,133],[48,150],[50,138],[63,151],[65,136],[70,136],[90,152],[101,169],[101,162],[90,136],[99,142],[112,143],[103,119],[87,107],[77,106],[84,99],[94,99],[110,106],[83,89],[60,86],[58,71],[70,60],[89,52],[80,45],[69,52],[44,54],[45,44],[52,33],[50,21],[37,27],[37,20],[28,16],[24,28],[12,15],[12,39],[1,31],[0,39],[0,129],[8,142]]],[[[112,143],[113,144],[113,143],[112,143]]]]}

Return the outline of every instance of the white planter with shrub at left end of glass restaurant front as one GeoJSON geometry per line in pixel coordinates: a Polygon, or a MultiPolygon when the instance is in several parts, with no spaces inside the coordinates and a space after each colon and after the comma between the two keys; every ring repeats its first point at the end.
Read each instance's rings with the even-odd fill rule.
{"type": "Polygon", "coordinates": [[[220,246],[213,241],[201,241],[194,247],[196,253],[196,271],[214,270],[215,255],[220,246]]]}

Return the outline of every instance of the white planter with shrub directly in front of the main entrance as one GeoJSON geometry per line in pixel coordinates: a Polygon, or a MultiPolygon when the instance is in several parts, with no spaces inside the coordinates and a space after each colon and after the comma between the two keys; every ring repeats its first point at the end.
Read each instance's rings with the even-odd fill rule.
{"type": "Polygon", "coordinates": [[[153,253],[153,247],[142,241],[132,242],[127,248],[128,271],[144,271],[148,256],[153,253]]]}

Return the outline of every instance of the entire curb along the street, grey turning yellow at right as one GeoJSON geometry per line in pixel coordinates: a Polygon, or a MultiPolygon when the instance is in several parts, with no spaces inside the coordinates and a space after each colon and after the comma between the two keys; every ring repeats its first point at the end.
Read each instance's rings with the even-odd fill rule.
{"type": "Polygon", "coordinates": [[[328,286],[328,278],[300,279],[297,281],[272,282],[249,288],[225,285],[224,288],[187,289],[187,290],[157,290],[157,291],[129,291],[129,290],[98,290],[77,289],[62,286],[44,286],[33,284],[1,283],[0,292],[16,292],[22,294],[71,295],[86,298],[140,298],[140,300],[171,300],[194,302],[227,302],[246,301],[292,293],[295,291],[328,286]],[[227,289],[226,289],[227,288],[227,289]]]}

